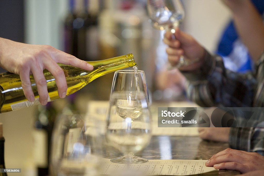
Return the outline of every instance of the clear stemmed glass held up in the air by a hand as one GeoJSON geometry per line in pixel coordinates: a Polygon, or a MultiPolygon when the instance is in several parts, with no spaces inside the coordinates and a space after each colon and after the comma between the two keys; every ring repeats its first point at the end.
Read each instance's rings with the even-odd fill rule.
{"type": "MultiPolygon", "coordinates": [[[[147,0],[147,10],[148,16],[155,28],[170,31],[172,34],[175,33],[175,27],[180,25],[185,16],[180,0],[147,0]]],[[[176,67],[179,68],[196,61],[197,59],[190,61],[181,56],[176,67]]]]}

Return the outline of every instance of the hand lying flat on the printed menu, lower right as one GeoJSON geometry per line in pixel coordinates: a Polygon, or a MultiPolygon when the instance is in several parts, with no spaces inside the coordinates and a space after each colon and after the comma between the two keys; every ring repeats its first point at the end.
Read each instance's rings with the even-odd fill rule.
{"type": "Polygon", "coordinates": [[[264,156],[242,150],[225,149],[213,155],[206,163],[215,169],[238,170],[241,173],[263,169],[264,156]]]}

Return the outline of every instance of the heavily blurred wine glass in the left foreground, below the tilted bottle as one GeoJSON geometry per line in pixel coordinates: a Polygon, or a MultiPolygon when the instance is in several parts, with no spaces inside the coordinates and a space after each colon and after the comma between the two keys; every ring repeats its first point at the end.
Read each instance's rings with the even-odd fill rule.
{"type": "Polygon", "coordinates": [[[100,123],[77,113],[62,113],[54,125],[51,144],[52,175],[100,175],[100,123]]]}

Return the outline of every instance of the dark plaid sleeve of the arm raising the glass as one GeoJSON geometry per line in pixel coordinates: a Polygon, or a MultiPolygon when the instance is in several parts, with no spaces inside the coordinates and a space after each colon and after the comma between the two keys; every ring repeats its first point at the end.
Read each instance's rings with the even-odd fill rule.
{"type": "Polygon", "coordinates": [[[252,73],[238,74],[225,69],[220,56],[208,52],[196,72],[182,72],[187,78],[188,98],[200,106],[251,107],[254,86],[252,73]]]}

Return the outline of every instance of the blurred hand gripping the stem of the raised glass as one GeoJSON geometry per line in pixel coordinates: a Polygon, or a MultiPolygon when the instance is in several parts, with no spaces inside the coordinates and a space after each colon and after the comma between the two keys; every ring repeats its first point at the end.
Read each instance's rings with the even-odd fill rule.
{"type": "Polygon", "coordinates": [[[190,65],[181,66],[179,70],[192,71],[201,67],[205,49],[192,36],[180,31],[177,27],[174,34],[171,32],[164,34],[163,42],[168,45],[166,53],[172,66],[176,66],[180,56],[183,55],[186,59],[195,60],[199,58],[200,60],[190,65]],[[176,40],[173,39],[172,35],[175,36],[176,40]]]}

